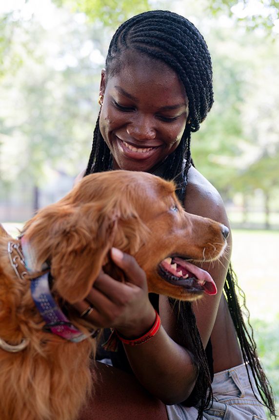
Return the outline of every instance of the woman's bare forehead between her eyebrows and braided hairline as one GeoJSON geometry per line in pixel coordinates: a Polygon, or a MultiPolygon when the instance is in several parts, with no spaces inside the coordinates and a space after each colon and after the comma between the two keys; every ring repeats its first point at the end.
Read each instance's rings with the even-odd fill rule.
{"type": "Polygon", "coordinates": [[[160,95],[160,100],[170,96],[184,102],[187,100],[184,86],[172,68],[135,50],[121,54],[117,70],[109,72],[107,84],[112,88],[120,86],[125,91],[137,91],[138,94],[152,90],[152,95],[160,95]]]}

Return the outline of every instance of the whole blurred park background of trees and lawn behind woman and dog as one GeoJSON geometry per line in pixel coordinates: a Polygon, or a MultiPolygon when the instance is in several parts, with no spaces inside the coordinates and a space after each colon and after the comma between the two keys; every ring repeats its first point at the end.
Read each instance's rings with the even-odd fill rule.
{"type": "Polygon", "coordinates": [[[0,222],[16,234],[85,168],[108,44],[126,18],[169,9],[212,54],[215,104],[192,136],[233,228],[233,265],[279,401],[279,0],[0,2],[0,222]]]}

